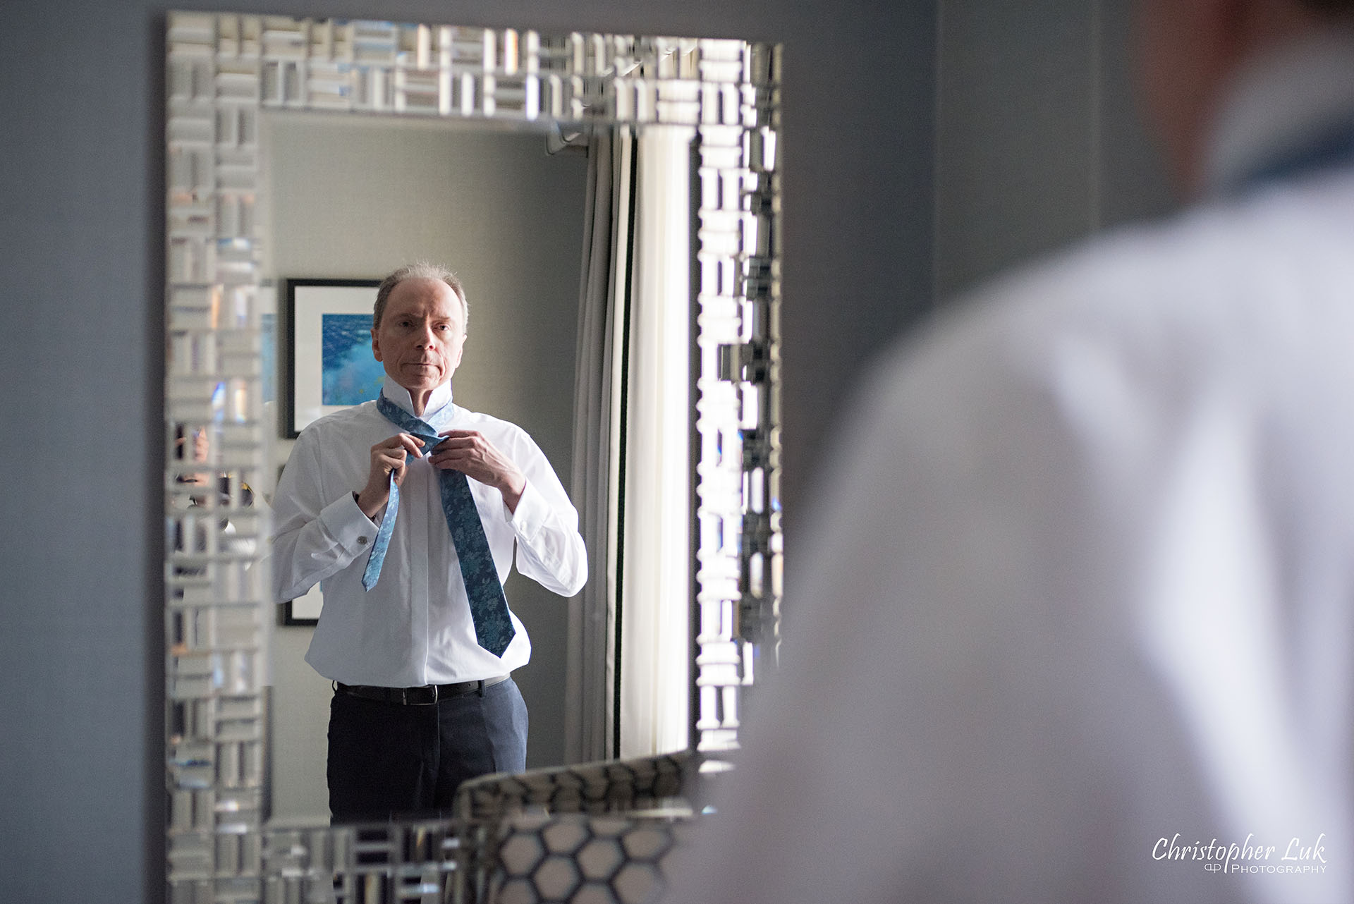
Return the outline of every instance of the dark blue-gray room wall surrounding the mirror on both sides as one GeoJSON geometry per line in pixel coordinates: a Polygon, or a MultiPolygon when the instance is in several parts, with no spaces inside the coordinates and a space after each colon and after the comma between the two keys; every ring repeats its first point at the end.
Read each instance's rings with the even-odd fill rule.
{"type": "MultiPolygon", "coordinates": [[[[784,45],[787,549],[864,361],[956,291],[1169,208],[1128,0],[16,0],[0,14],[0,897],[164,869],[167,8],[784,45]]],[[[793,631],[793,587],[787,631],[793,631]]]]}

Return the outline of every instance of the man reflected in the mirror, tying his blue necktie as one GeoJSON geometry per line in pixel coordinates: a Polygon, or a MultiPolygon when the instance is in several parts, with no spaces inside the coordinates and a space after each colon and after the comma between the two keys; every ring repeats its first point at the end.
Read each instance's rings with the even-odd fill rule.
{"type": "Polygon", "coordinates": [[[510,673],[531,641],[501,582],[515,558],[561,595],[586,579],[578,514],[546,456],[521,428],[452,402],[467,314],[443,268],[386,277],[371,330],[383,398],[307,426],[278,483],[275,595],[292,600],[315,582],[325,594],[306,662],[336,682],[334,821],[435,813],[467,778],[523,770],[527,709],[510,673]],[[466,499],[460,517],[482,525],[492,564],[458,555],[458,513],[443,502],[452,472],[468,478],[474,513],[466,499]],[[482,562],[502,605],[498,643],[485,640],[463,559],[482,562]]]}

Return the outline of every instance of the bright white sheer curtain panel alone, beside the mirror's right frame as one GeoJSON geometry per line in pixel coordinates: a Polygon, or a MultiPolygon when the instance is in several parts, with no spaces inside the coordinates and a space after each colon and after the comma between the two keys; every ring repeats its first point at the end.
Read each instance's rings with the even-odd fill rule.
{"type": "Polygon", "coordinates": [[[638,141],[621,517],[620,755],[688,744],[691,698],[691,142],[638,141]]]}

